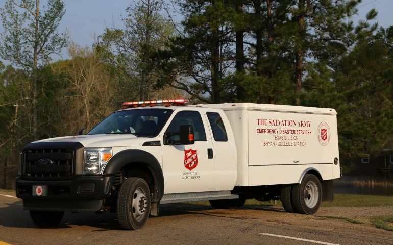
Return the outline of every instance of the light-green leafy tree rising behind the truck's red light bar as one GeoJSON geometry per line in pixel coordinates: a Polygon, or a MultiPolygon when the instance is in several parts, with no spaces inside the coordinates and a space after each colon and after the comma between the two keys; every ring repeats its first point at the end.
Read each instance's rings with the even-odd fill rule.
{"type": "Polygon", "coordinates": [[[161,0],[135,2],[122,16],[124,29],[107,28],[94,44],[102,60],[112,67],[125,89],[120,100],[150,99],[157,77],[162,71],[154,66],[152,55],[165,48],[173,34],[173,26],[160,11],[161,0]]]}

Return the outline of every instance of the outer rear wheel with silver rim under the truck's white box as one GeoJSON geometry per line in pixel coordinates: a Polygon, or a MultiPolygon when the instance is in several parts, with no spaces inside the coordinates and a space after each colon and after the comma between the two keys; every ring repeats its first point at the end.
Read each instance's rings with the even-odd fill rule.
{"type": "Polygon", "coordinates": [[[296,212],[314,214],[322,200],[322,186],[320,180],[311,174],[306,174],[302,183],[293,185],[292,202],[296,212]]]}

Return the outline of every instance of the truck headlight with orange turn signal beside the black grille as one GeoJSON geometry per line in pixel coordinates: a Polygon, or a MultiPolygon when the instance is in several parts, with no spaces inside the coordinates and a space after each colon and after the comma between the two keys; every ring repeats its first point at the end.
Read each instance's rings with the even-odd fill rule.
{"type": "Polygon", "coordinates": [[[83,173],[101,174],[105,164],[112,157],[112,148],[85,148],[83,173]]]}

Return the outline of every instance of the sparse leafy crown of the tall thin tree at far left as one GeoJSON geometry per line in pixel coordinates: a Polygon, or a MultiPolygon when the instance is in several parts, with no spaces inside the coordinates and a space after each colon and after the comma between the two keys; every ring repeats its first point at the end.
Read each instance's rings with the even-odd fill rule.
{"type": "Polygon", "coordinates": [[[33,70],[46,64],[52,54],[66,46],[67,36],[58,33],[65,9],[61,0],[49,0],[40,11],[34,0],[7,0],[0,16],[4,32],[0,35],[0,57],[14,65],[33,70]]]}

